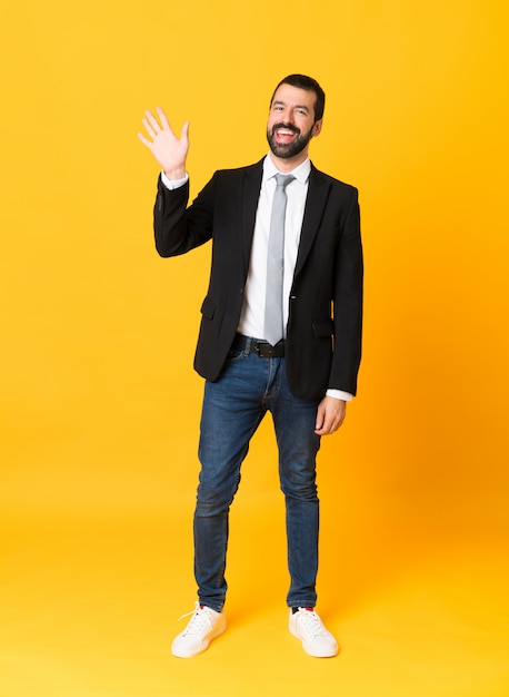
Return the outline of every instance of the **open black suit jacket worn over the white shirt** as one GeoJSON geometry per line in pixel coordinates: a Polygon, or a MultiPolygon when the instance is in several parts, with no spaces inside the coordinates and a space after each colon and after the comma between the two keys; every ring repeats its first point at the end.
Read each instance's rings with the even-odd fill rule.
{"type": "MultiPolygon", "coordinates": [[[[156,247],[184,254],[212,239],[212,264],[194,356],[207,380],[219,376],[239,324],[263,160],[217,171],[191,206],[189,185],[154,205],[156,247]]],[[[361,355],[362,248],[357,189],[311,167],[289,298],[286,370],[291,392],[320,399],[328,387],[357,391],[361,355]]]]}

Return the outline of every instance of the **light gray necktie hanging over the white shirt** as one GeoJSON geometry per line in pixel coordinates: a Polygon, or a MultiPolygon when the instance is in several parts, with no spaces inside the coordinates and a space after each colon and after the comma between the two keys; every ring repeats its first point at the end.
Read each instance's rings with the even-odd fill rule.
{"type": "Polygon", "coordinates": [[[272,346],[283,337],[282,279],[285,271],[285,214],[287,209],[285,189],[292,179],[295,179],[293,175],[276,175],[276,193],[270,216],[263,338],[270,342],[272,346]]]}

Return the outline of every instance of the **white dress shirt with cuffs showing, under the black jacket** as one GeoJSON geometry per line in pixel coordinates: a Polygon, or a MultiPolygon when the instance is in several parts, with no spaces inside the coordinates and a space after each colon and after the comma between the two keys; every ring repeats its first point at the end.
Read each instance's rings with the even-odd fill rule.
{"type": "MultiPolygon", "coordinates": [[[[263,160],[263,175],[261,180],[260,197],[258,199],[251,259],[246,281],[243,304],[238,327],[240,334],[255,336],[257,338],[263,338],[269,228],[272,212],[272,199],[276,192],[275,175],[278,173],[279,169],[277,169],[270,156],[267,155],[263,160]]],[[[309,158],[296,167],[296,169],[291,173],[281,173],[291,174],[295,177],[293,181],[290,181],[290,184],[286,187],[287,208],[285,218],[283,275],[283,297],[286,298],[289,298],[290,296],[291,284],[293,281],[310,173],[311,163],[309,158]]],[[[176,189],[183,186],[188,178],[189,177],[186,176],[183,179],[170,180],[164,173],[161,174],[161,180],[169,189],[176,189]]],[[[283,305],[285,334],[288,323],[288,308],[289,303],[286,302],[283,305]]],[[[342,390],[328,390],[327,395],[345,401],[351,401],[353,399],[350,393],[343,392],[342,390]]]]}

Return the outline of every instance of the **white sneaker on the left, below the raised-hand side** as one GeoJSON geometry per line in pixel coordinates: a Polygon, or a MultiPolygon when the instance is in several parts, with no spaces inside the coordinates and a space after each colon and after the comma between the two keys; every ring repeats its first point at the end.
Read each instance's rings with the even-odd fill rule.
{"type": "Polygon", "coordinates": [[[178,658],[192,658],[204,651],[209,644],[227,628],[227,618],[224,612],[216,612],[211,608],[194,603],[196,609],[192,612],[182,615],[188,617],[192,615],[188,626],[173,639],[171,652],[178,658]]]}

